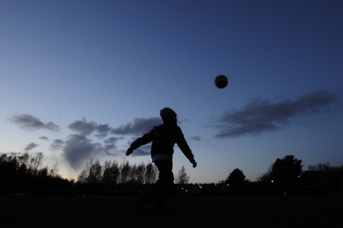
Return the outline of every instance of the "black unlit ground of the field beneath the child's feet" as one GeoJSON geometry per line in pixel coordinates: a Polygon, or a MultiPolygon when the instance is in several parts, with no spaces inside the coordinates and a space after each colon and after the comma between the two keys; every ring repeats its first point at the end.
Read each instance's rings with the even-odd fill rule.
{"type": "Polygon", "coordinates": [[[151,215],[135,201],[1,196],[0,227],[343,227],[343,195],[175,197],[151,215]]]}

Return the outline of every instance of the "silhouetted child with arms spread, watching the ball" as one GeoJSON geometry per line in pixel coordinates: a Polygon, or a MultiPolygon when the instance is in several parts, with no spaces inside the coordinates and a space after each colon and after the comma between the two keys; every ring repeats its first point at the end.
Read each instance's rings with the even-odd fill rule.
{"type": "Polygon", "coordinates": [[[160,112],[163,124],[155,126],[149,133],[143,137],[136,139],[131,143],[126,155],[129,156],[133,150],[139,148],[152,141],[151,144],[151,158],[156,165],[159,175],[158,180],[150,187],[137,201],[134,206],[136,211],[150,213],[152,209],[149,203],[155,196],[157,196],[154,208],[159,211],[167,212],[169,208],[166,206],[166,198],[170,188],[174,183],[173,169],[173,153],[174,144],[176,143],[182,153],[193,164],[193,168],[197,166],[194,160],[194,155],[189,149],[182,134],[181,128],[177,126],[176,113],[165,107],[160,112]]]}

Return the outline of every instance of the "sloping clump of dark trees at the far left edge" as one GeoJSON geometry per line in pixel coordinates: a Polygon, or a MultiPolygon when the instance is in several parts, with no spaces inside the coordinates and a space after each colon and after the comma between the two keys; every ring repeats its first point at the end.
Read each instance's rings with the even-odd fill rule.
{"type": "Polygon", "coordinates": [[[72,195],[74,180],[58,174],[58,164],[44,166],[44,154],[0,153],[0,194],[72,195]]]}

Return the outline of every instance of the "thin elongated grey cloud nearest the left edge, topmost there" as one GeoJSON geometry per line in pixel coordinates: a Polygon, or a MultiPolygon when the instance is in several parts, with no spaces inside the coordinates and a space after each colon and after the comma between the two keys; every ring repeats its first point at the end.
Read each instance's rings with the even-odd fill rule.
{"type": "Polygon", "coordinates": [[[41,128],[52,131],[60,130],[60,127],[53,122],[50,121],[47,124],[44,124],[38,117],[29,114],[13,115],[13,117],[8,120],[24,130],[37,130],[41,128]]]}

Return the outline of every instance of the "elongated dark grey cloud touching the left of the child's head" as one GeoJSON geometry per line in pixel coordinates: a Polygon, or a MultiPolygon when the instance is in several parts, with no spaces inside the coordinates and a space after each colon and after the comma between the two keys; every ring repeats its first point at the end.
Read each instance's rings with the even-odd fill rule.
{"type": "Polygon", "coordinates": [[[135,117],[132,122],[113,128],[111,133],[115,135],[143,135],[153,129],[154,126],[162,123],[160,117],[150,117],[147,119],[135,117]]]}

